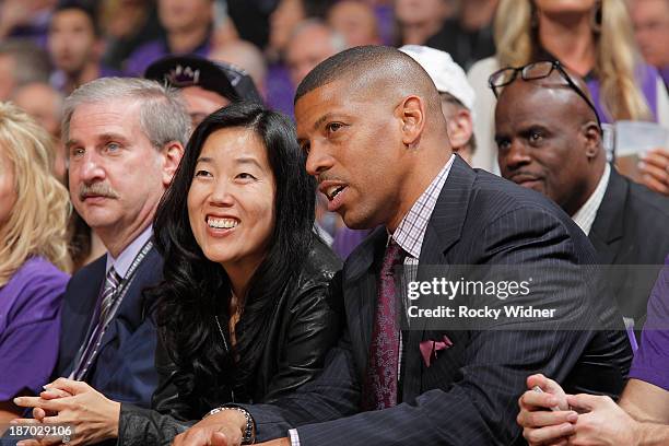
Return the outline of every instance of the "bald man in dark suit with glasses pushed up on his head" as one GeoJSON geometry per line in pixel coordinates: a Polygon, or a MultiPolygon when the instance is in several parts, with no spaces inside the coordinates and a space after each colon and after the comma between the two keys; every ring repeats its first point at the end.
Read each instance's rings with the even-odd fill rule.
{"type": "MultiPolygon", "coordinates": [[[[558,203],[588,236],[599,265],[662,265],[669,253],[669,199],[607,163],[586,92],[583,80],[566,71],[528,81],[518,72],[498,93],[495,110],[502,176],[558,203]]],[[[611,274],[609,290],[638,334],[655,275],[613,271],[621,272],[611,274]]]]}

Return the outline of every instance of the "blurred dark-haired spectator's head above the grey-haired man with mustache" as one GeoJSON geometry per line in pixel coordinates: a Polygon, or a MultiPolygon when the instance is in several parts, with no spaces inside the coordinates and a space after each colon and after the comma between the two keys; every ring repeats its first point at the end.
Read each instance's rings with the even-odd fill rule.
{"type": "Polygon", "coordinates": [[[120,75],[101,64],[103,46],[95,9],[80,1],[61,2],[51,15],[47,40],[56,69],[51,84],[67,95],[97,78],[120,75]]]}

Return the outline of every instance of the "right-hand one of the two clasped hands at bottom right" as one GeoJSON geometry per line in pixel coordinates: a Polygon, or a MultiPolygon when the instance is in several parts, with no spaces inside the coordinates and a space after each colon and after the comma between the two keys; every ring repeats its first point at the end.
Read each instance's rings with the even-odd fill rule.
{"type": "Polygon", "coordinates": [[[568,396],[567,401],[584,412],[578,415],[575,435],[570,437],[574,446],[636,446],[639,424],[609,397],[592,395],[568,396]]]}

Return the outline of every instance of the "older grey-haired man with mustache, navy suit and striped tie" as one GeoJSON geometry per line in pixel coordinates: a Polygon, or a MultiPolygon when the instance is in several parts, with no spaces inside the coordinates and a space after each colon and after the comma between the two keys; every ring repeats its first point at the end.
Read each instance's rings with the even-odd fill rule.
{"type": "MultiPolygon", "coordinates": [[[[116,401],[149,407],[157,386],[155,302],[142,291],[162,280],[152,222],[189,132],[179,93],[154,81],[98,79],[66,101],[62,140],[72,203],[108,253],[68,283],[56,375],[87,383],[113,400],[117,415],[116,401]]],[[[61,422],[77,424],[94,409],[77,400],[72,386],[52,388],[51,398],[74,394],[54,410],[61,422]]],[[[23,398],[16,403],[43,402],[23,398]]]]}

